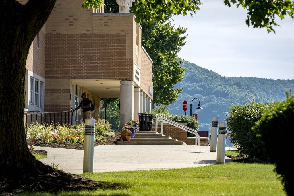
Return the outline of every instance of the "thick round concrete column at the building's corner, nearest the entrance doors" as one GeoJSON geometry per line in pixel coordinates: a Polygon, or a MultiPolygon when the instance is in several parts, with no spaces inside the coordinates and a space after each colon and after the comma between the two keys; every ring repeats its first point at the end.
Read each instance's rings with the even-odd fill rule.
{"type": "Polygon", "coordinates": [[[129,120],[133,120],[134,113],[134,82],[122,80],[120,86],[119,102],[119,128],[121,129],[129,120]]]}

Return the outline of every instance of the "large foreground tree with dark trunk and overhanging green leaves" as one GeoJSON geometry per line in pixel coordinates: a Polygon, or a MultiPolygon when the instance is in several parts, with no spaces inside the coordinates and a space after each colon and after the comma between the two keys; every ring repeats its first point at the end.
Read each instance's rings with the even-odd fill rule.
{"type": "MultiPolygon", "coordinates": [[[[25,64],[29,47],[36,34],[44,26],[55,2],[56,0],[29,0],[25,5],[22,5],[13,0],[0,1],[0,37],[2,39],[0,42],[0,107],[1,111],[5,111],[5,115],[0,116],[0,133],[6,138],[0,143],[2,172],[0,180],[1,182],[5,180],[11,185],[19,184],[19,179],[15,178],[25,176],[21,175],[24,173],[29,175],[34,173],[39,176],[38,174],[46,175],[49,172],[54,172],[52,167],[43,165],[29,153],[26,145],[23,114],[25,64]],[[13,104],[11,104],[12,97],[15,100],[13,104]],[[15,172],[15,175],[12,173],[8,175],[8,171],[15,172]]],[[[236,1],[230,0],[230,2],[235,3],[236,1]]],[[[288,14],[293,18],[294,6],[290,0],[238,2],[239,5],[248,9],[248,17],[253,27],[271,29],[272,25],[276,25],[274,21],[276,15],[283,18],[288,14]]],[[[97,9],[102,3],[102,0],[85,0],[82,7],[97,9]]],[[[195,0],[141,0],[135,1],[134,6],[138,9],[134,13],[138,17],[138,21],[141,18],[149,21],[162,20],[164,16],[170,14],[194,14],[200,4],[200,1],[195,0]]],[[[225,1],[225,4],[229,5],[229,1],[225,1]]],[[[61,177],[60,174],[59,176],[61,177]]],[[[74,180],[74,177],[68,178],[64,174],[62,176],[63,179],[74,180]]],[[[43,183],[43,185],[45,184],[43,183]]],[[[58,185],[60,189],[64,188],[62,183],[58,185]]]]}

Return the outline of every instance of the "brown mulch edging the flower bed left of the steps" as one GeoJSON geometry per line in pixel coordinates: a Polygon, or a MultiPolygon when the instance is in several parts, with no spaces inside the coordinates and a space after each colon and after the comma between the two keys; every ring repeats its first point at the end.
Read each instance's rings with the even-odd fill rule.
{"type": "MultiPolygon", "coordinates": [[[[106,138],[106,142],[96,142],[95,141],[95,146],[98,145],[115,145],[117,144],[117,141],[121,139],[121,133],[120,132],[115,132],[115,136],[107,136],[104,135],[106,138]]],[[[27,139],[27,144],[30,145],[31,140],[28,138],[27,139]]],[[[84,143],[74,143],[74,144],[60,144],[60,143],[42,143],[42,142],[36,142],[35,146],[42,146],[42,147],[51,147],[51,148],[69,148],[69,149],[78,149],[78,150],[83,150],[84,149],[84,143]]]]}

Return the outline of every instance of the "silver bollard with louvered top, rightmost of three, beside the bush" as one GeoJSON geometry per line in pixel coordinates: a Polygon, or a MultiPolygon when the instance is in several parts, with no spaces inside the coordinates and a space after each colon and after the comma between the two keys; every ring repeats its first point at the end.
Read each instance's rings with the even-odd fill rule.
{"type": "Polygon", "coordinates": [[[218,130],[218,151],[216,153],[216,164],[225,163],[225,139],[227,133],[227,123],[220,122],[218,130]]]}

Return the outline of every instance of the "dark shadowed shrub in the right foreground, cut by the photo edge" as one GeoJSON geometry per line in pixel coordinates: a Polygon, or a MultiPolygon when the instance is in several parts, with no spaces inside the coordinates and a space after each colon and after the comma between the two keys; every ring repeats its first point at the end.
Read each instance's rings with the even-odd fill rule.
{"type": "Polygon", "coordinates": [[[294,96],[289,96],[288,92],[286,94],[286,101],[265,109],[253,130],[263,141],[269,160],[275,164],[275,171],[281,175],[287,195],[293,195],[290,188],[293,166],[289,152],[293,147],[290,137],[294,127],[294,96]]]}

